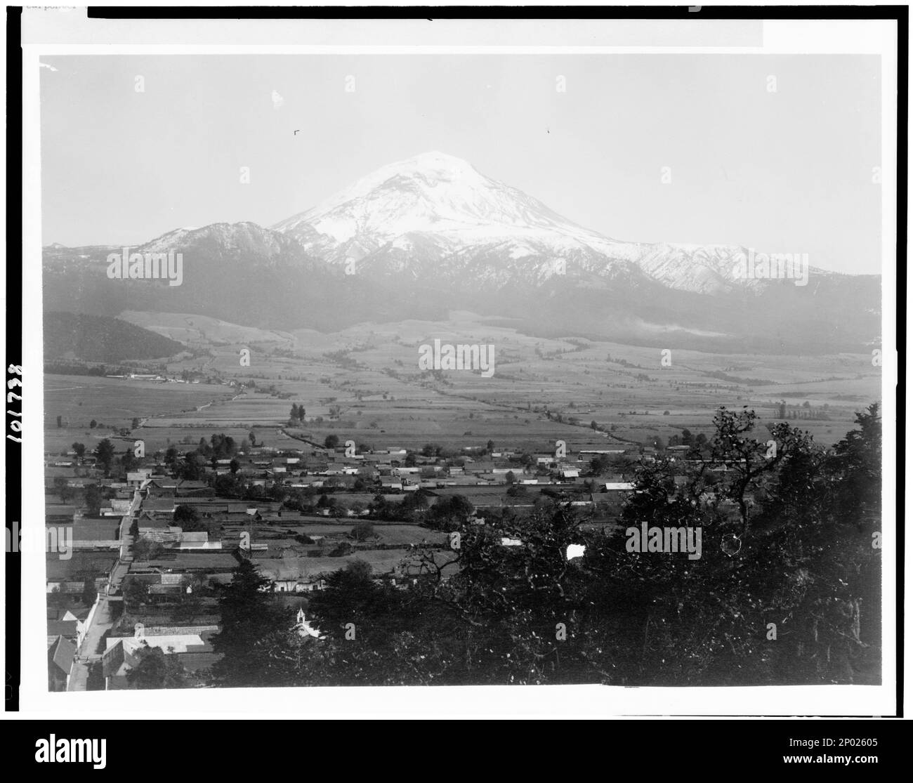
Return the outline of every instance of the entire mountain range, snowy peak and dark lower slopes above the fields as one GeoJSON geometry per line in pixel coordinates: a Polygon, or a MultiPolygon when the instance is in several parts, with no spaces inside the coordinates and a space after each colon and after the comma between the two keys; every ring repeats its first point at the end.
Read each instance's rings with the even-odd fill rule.
{"type": "Polygon", "coordinates": [[[856,350],[880,327],[879,277],[740,277],[744,247],[599,235],[439,152],[384,166],[271,229],[182,228],[133,250],[182,253],[183,284],[110,280],[111,248],[49,246],[46,307],[288,330],[466,309],[537,333],[702,350],[856,350]]]}

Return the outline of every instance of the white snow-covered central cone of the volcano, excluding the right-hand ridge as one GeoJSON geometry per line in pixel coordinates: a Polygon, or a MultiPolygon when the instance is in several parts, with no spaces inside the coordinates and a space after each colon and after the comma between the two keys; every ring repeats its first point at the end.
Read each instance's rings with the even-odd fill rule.
{"type": "Polygon", "coordinates": [[[364,260],[375,271],[392,263],[415,274],[425,271],[423,259],[452,257],[465,266],[470,256],[484,253],[490,262],[496,247],[506,266],[529,259],[527,272],[535,271],[537,261],[586,256],[604,268],[637,255],[635,246],[573,224],[530,195],[442,152],[383,166],[273,228],[331,263],[364,260]]]}

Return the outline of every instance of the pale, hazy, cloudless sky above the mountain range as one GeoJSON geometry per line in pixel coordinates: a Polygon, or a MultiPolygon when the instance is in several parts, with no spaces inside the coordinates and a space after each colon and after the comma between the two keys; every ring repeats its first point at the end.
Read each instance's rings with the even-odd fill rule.
{"type": "Polygon", "coordinates": [[[42,62],[57,68],[41,69],[45,244],[270,225],[385,163],[437,150],[616,239],[740,244],[880,271],[877,57],[42,62]],[[241,166],[249,184],[239,183],[241,166]]]}

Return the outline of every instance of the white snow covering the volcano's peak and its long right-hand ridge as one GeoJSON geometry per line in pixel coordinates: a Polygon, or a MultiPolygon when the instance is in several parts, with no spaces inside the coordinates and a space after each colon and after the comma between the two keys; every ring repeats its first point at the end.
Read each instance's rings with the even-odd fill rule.
{"type": "Polygon", "coordinates": [[[375,274],[472,271],[497,285],[541,284],[556,274],[604,282],[639,271],[665,287],[711,295],[764,285],[733,275],[744,248],[621,242],[442,152],[383,166],[273,228],[312,256],[359,262],[375,274]]]}

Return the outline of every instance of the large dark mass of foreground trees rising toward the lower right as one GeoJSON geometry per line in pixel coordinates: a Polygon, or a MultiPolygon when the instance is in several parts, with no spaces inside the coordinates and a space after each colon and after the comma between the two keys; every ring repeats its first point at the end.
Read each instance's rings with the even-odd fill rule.
{"type": "MultiPolygon", "coordinates": [[[[262,591],[265,580],[242,564],[221,600],[216,677],[225,685],[875,684],[877,406],[832,450],[785,423],[756,440],[755,423],[753,412],[721,409],[710,455],[689,466],[685,483],[666,460],[637,470],[624,522],[700,527],[699,559],[632,551],[626,534],[583,525],[569,505],[492,515],[485,525],[454,507],[444,524],[459,532],[458,548],[416,550],[403,566],[415,583],[396,588],[359,565],[331,576],[310,601],[320,640],[300,636],[262,591]],[[731,469],[711,479],[720,461],[731,469]],[[578,556],[569,559],[572,545],[578,556]]],[[[434,513],[450,504],[459,505],[434,513]]]]}

